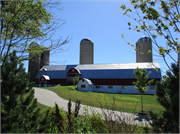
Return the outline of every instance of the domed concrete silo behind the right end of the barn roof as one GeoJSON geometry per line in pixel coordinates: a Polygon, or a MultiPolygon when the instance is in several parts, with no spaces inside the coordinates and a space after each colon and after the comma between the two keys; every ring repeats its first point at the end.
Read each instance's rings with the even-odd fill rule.
{"type": "Polygon", "coordinates": [[[143,36],[136,42],[136,62],[153,62],[151,38],[143,36]],[[151,53],[148,53],[148,51],[151,53]]]}

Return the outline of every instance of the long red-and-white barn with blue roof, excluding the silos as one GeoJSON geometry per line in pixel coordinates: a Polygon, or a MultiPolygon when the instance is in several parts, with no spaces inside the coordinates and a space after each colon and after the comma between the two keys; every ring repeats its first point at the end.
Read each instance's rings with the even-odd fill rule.
{"type": "Polygon", "coordinates": [[[36,76],[36,86],[72,84],[73,78],[79,75],[79,91],[139,94],[133,85],[136,81],[133,71],[137,67],[152,72],[149,79],[154,79],[154,83],[147,87],[146,94],[155,94],[155,82],[161,79],[157,62],[44,66],[36,76]]]}

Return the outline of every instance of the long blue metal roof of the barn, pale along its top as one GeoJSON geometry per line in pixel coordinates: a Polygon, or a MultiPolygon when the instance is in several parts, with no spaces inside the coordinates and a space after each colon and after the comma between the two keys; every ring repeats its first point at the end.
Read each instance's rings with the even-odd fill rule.
{"type": "Polygon", "coordinates": [[[161,78],[159,63],[123,63],[44,66],[43,68],[46,68],[47,71],[43,73],[43,68],[41,68],[36,75],[36,79],[39,79],[42,75],[48,75],[50,79],[66,79],[66,73],[73,67],[80,71],[82,78],[87,79],[135,79],[133,71],[136,67],[145,68],[147,74],[151,71],[150,79],[161,78]],[[154,69],[155,67],[158,68],[158,71],[154,69]]]}

